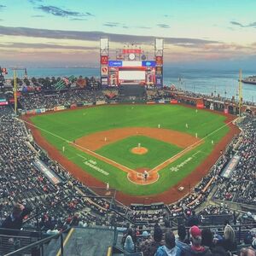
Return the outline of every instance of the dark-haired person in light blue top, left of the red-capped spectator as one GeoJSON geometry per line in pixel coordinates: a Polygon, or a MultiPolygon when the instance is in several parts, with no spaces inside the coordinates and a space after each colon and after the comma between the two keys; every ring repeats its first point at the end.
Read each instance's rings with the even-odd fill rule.
{"type": "Polygon", "coordinates": [[[155,256],[181,256],[181,249],[175,243],[175,236],[171,230],[166,230],[165,245],[159,247],[155,256]]]}

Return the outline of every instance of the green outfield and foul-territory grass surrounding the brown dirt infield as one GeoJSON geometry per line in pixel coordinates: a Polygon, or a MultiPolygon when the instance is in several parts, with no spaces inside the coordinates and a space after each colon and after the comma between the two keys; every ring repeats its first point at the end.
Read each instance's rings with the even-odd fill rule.
{"type": "MultiPolygon", "coordinates": [[[[229,128],[224,126],[224,119],[224,116],[220,114],[209,113],[203,110],[198,110],[196,113],[193,108],[185,108],[178,105],[110,105],[38,115],[32,117],[32,122],[39,128],[44,129],[44,131],[41,131],[42,135],[60,152],[62,146],[65,146],[64,155],[83,168],[84,172],[89,172],[92,176],[103,182],[108,182],[111,187],[122,190],[126,194],[152,195],[169,189],[190,172],[193,172],[195,167],[199,166],[201,161],[206,159],[207,155],[212,152],[212,140],[214,143],[218,143],[229,131],[229,128]],[[185,127],[186,123],[189,124],[189,129],[185,127]],[[138,126],[157,128],[159,124],[161,128],[183,131],[193,136],[195,136],[196,132],[198,137],[208,137],[205,138],[205,143],[184,154],[171,165],[161,170],[160,179],[157,183],[143,186],[143,189],[142,186],[129,182],[125,172],[97,160],[67,143],[67,141],[73,141],[96,131],[138,126]],[[216,131],[222,126],[222,129],[209,136],[212,131],[216,131]],[[58,137],[55,137],[55,135],[58,137]],[[193,156],[193,154],[195,155],[193,156]],[[173,172],[175,169],[173,167],[177,169],[177,166],[183,163],[183,161],[188,160],[189,157],[191,160],[187,164],[173,172]],[[90,160],[94,160],[93,165],[104,172],[96,171],[96,168],[88,165],[90,160]]],[[[119,142],[117,142],[116,146],[118,144],[119,142]]],[[[111,148],[111,145],[106,147],[111,148]]],[[[100,150],[104,151],[106,149],[104,148],[100,150]]],[[[107,149],[106,152],[102,154],[108,154],[107,149]]],[[[63,153],[61,152],[61,154],[63,153]]],[[[164,153],[160,150],[160,154],[164,153]]],[[[123,158],[124,160],[128,157],[126,151],[123,152],[123,156],[119,151],[113,152],[111,155],[108,155],[108,157],[113,160],[115,157],[123,158]],[[112,157],[110,157],[111,155],[112,157]]]]}

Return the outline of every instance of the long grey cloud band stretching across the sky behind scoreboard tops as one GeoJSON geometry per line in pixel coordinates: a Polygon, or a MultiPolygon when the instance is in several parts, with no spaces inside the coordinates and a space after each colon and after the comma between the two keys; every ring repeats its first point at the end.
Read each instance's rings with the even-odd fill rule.
{"type": "MultiPolygon", "coordinates": [[[[99,41],[101,37],[110,38],[111,42],[125,44],[127,42],[137,42],[137,44],[153,44],[153,36],[137,36],[127,34],[114,34],[106,32],[79,32],[79,31],[61,31],[49,29],[37,29],[29,27],[0,26],[0,35],[23,36],[31,38],[55,38],[55,39],[73,39],[99,41]]],[[[200,38],[164,38],[165,44],[212,44],[218,41],[200,39],[200,38]]]]}

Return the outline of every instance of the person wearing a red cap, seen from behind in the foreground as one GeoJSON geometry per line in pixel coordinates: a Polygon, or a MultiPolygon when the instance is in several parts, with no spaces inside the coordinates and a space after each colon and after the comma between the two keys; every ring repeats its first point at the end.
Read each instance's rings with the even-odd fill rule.
{"type": "Polygon", "coordinates": [[[203,255],[209,256],[212,255],[210,249],[208,247],[204,247],[201,245],[201,230],[197,226],[193,226],[189,230],[191,245],[188,249],[183,250],[184,256],[195,256],[195,255],[203,255]]]}

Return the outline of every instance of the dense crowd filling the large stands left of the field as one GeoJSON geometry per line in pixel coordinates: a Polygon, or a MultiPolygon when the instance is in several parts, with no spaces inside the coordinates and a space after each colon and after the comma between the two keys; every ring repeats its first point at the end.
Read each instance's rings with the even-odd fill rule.
{"type": "MultiPolygon", "coordinates": [[[[90,199],[93,195],[55,161],[41,156],[39,148],[28,139],[26,127],[16,119],[10,108],[0,108],[0,195],[1,218],[6,218],[14,202],[31,207],[43,230],[78,219],[80,225],[106,224],[108,202],[90,199]],[[34,150],[32,150],[34,148],[34,150]],[[38,151],[37,151],[38,150],[38,151]],[[44,163],[60,177],[61,183],[51,183],[36,168],[34,160],[44,163]],[[82,192],[81,192],[82,190],[82,192]]],[[[42,152],[41,152],[42,153],[42,152]]],[[[32,226],[36,218],[32,219],[32,226]]]]}

